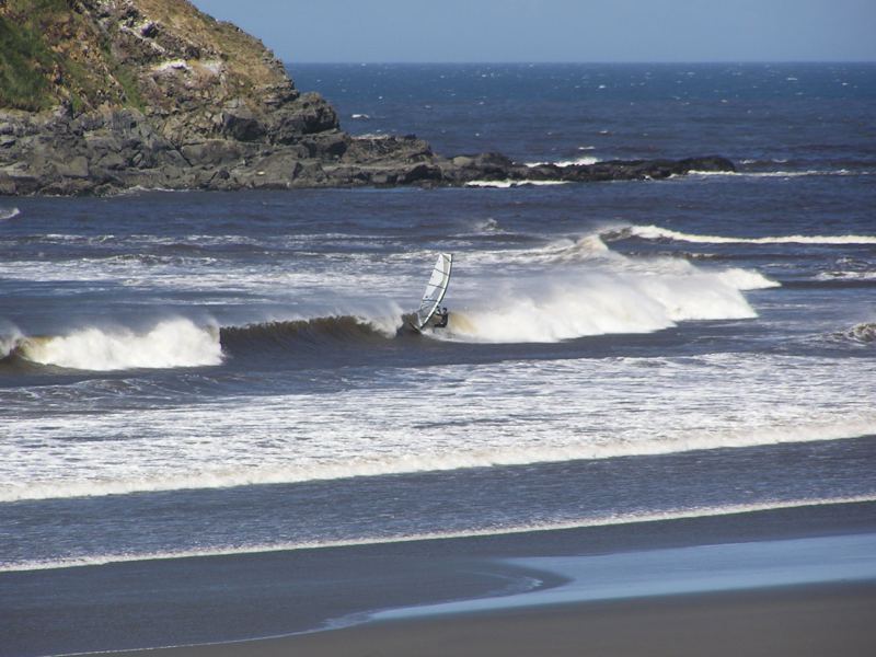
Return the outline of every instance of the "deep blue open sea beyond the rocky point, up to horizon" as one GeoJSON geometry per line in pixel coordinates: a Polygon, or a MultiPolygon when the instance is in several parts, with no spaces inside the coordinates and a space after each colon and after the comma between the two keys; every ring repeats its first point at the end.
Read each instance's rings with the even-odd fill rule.
{"type": "Polygon", "coordinates": [[[873,65],[291,65],[290,72],[299,89],[335,105],[345,129],[415,132],[446,154],[562,161],[715,152],[752,161],[750,169],[780,169],[769,166],[774,161],[791,171],[872,169],[876,157],[873,65]]]}

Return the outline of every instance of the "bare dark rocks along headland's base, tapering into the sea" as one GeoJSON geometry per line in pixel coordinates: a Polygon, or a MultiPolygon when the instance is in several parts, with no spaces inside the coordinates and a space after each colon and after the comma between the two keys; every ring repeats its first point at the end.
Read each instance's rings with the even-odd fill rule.
{"type": "Polygon", "coordinates": [[[442,158],[422,139],[353,137],[337,128],[261,141],[252,117],[226,123],[233,138],[175,145],[131,108],[77,117],[20,114],[0,122],[0,194],[108,194],[132,187],[239,189],[464,185],[473,181],[597,182],[734,171],[726,159],[635,160],[557,166],[498,153],[442,158]]]}

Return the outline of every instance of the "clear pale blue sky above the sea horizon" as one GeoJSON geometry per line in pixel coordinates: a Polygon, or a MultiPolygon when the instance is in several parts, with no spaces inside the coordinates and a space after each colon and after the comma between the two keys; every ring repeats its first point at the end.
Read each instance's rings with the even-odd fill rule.
{"type": "Polygon", "coordinates": [[[287,62],[876,61],[876,0],[194,0],[287,62]]]}

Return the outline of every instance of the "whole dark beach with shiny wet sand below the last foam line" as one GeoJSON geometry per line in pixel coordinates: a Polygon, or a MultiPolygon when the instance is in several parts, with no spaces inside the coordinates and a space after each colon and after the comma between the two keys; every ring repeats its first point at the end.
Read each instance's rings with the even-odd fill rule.
{"type": "Polygon", "coordinates": [[[4,573],[0,654],[872,655],[875,510],[4,573]]]}

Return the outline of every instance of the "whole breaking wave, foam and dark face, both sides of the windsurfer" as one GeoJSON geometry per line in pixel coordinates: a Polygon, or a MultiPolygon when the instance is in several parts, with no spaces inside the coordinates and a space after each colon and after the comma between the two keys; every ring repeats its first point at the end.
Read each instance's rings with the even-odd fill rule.
{"type": "MultiPolygon", "coordinates": [[[[489,220],[485,226],[497,224],[489,220]]],[[[446,331],[427,332],[429,337],[555,343],[652,333],[691,320],[752,319],[757,312],[742,291],[779,286],[756,270],[706,270],[684,258],[627,257],[596,233],[481,252],[456,285],[450,323],[446,331]],[[505,266],[494,266],[498,263],[505,266]]],[[[111,371],[218,366],[224,357],[264,358],[277,350],[312,357],[338,345],[387,345],[404,333],[407,319],[393,302],[382,314],[304,315],[222,327],[177,318],[139,331],[85,326],[30,336],[2,328],[0,359],[111,371]]]]}

